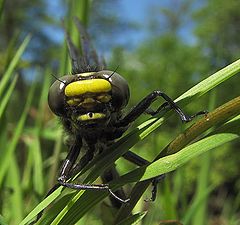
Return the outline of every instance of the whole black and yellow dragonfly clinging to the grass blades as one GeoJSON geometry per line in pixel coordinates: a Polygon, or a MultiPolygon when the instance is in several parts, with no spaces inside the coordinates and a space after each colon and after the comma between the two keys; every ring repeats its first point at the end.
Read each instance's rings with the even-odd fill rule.
{"type": "MultiPolygon", "coordinates": [[[[181,121],[189,122],[205,112],[189,116],[167,94],[154,90],[128,113],[124,113],[130,98],[128,82],[117,73],[117,69],[107,69],[103,58],[99,57],[92,47],[83,24],[77,18],[74,18],[74,22],[80,34],[81,49],[76,47],[65,30],[72,73],[55,77],[56,80],[48,93],[49,107],[59,117],[69,137],[69,151],[62,163],[57,185],[48,194],[59,186],[76,190],[108,191],[112,205],[120,207],[128,202],[129,198],[126,198],[122,189],[112,191],[108,184],[119,176],[114,166],[103,172],[102,184],[75,183],[71,178],[82,171],[96,155],[122,137],[131,124],[144,113],[155,116],[169,108],[177,113],[181,121]],[[163,98],[165,102],[156,110],[151,109],[152,103],[158,98],[163,98]],[[78,159],[80,152],[83,154],[78,159]]],[[[132,151],[126,152],[123,158],[137,166],[150,163],[132,151]]],[[[152,180],[151,200],[156,198],[157,184],[161,179],[162,176],[159,176],[152,180]]]]}

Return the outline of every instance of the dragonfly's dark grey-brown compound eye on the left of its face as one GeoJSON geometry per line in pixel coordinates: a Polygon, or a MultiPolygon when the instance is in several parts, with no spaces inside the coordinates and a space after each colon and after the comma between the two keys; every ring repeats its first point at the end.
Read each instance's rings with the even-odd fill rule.
{"type": "Polygon", "coordinates": [[[74,80],[75,77],[73,75],[66,75],[56,80],[50,87],[48,92],[48,105],[55,115],[66,115],[64,90],[66,85],[74,80]]]}

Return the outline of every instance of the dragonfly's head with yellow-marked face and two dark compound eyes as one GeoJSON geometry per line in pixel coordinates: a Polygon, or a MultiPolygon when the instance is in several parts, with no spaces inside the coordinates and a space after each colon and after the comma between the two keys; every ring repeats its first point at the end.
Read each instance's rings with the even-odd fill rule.
{"type": "Polygon", "coordinates": [[[63,76],[53,83],[48,95],[52,112],[78,126],[110,122],[128,100],[126,80],[108,70],[63,76]]]}

